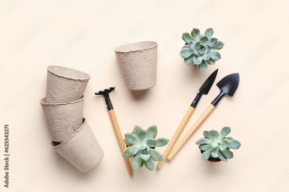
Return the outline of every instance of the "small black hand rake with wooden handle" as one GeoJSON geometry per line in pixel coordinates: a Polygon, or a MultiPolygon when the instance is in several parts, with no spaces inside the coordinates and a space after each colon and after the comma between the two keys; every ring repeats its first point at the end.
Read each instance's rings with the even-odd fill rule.
{"type": "MultiPolygon", "coordinates": [[[[115,113],[114,113],[114,109],[112,107],[112,103],[111,103],[109,95],[108,95],[108,93],[111,92],[112,90],[114,90],[114,88],[115,87],[110,87],[109,89],[105,89],[105,90],[96,92],[95,94],[96,95],[103,95],[104,98],[105,98],[106,106],[108,107],[108,113],[110,115],[110,119],[111,119],[112,125],[114,127],[114,132],[116,134],[118,145],[121,148],[121,153],[123,153],[123,150],[125,150],[125,144],[123,142],[123,137],[122,137],[122,134],[121,134],[121,130],[119,129],[118,122],[117,122],[117,119],[116,119],[116,116],[115,116],[115,113]]],[[[129,159],[127,159],[125,157],[123,157],[123,159],[125,160],[125,165],[127,167],[127,172],[129,174],[129,176],[133,176],[134,172],[133,172],[133,170],[131,168],[131,164],[129,162],[129,159]]]]}

